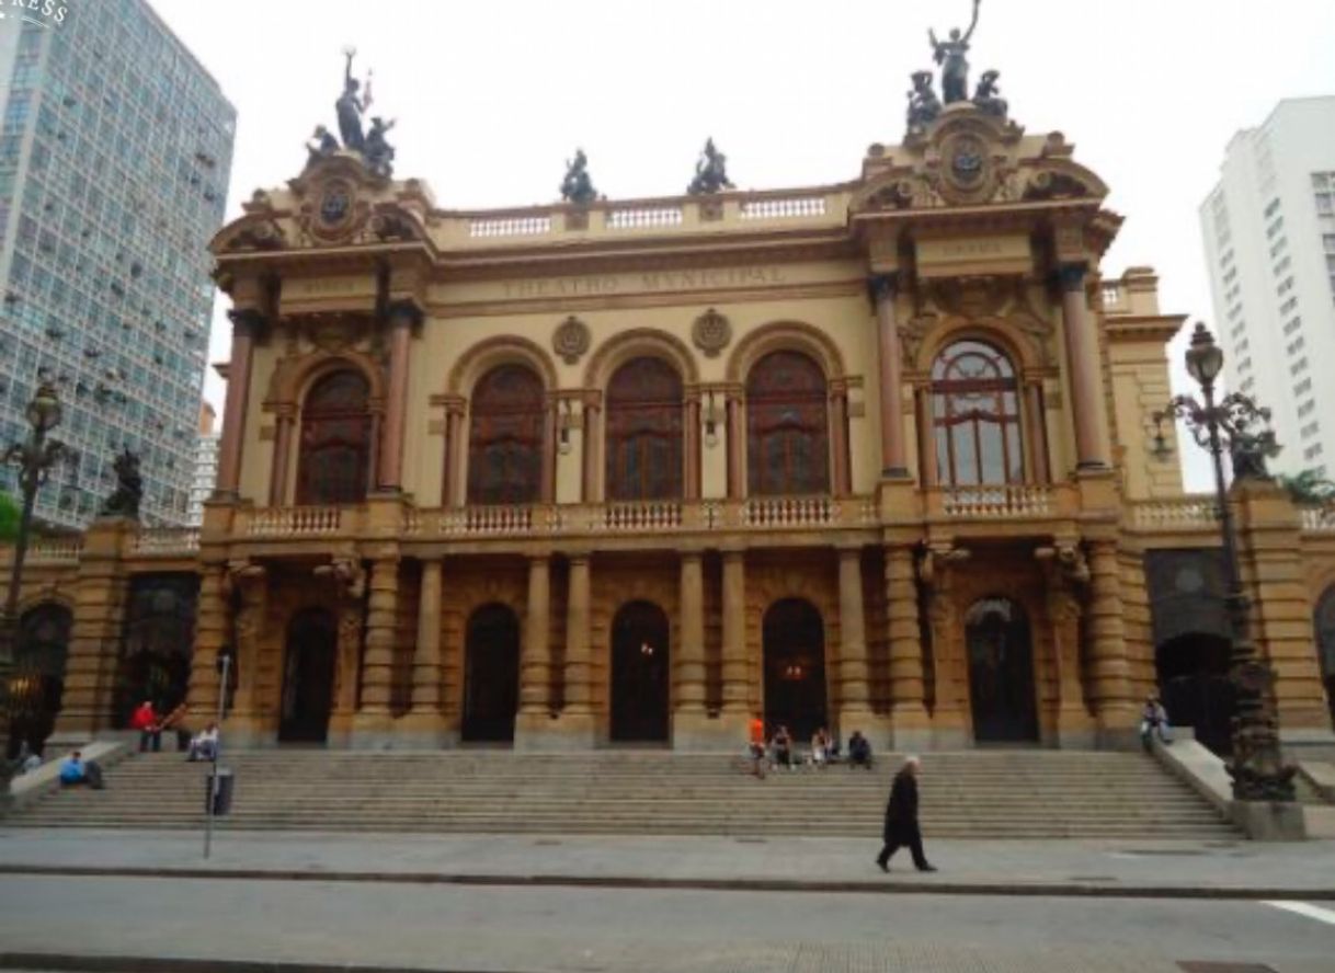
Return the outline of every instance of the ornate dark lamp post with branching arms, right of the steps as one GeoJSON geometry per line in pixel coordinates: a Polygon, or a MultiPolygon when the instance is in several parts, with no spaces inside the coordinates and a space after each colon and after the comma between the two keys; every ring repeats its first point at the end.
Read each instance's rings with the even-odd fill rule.
{"type": "Polygon", "coordinates": [[[1238,561],[1238,533],[1228,507],[1224,482],[1224,450],[1236,479],[1268,479],[1266,459],[1279,454],[1270,428],[1270,410],[1242,392],[1215,400],[1215,379],[1224,366],[1224,352],[1214,335],[1197,323],[1187,350],[1187,371],[1200,384],[1204,402],[1177,395],[1155,412],[1155,452],[1168,454],[1163,424],[1181,419],[1192,438],[1210,452],[1215,468],[1215,503],[1224,553],[1226,605],[1231,630],[1230,678],[1238,699],[1234,718],[1234,755],[1228,774],[1236,801],[1294,801],[1294,767],[1279,746],[1279,718],[1274,701],[1274,671],[1256,651],[1251,638],[1251,602],[1243,593],[1238,561]],[[1259,428],[1254,430],[1254,426],[1259,428]]]}

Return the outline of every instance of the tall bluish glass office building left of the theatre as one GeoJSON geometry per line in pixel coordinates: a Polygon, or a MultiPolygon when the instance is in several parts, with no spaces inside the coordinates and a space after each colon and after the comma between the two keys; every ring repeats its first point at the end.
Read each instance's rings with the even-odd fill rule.
{"type": "Polygon", "coordinates": [[[0,444],[49,376],[76,459],[37,517],[87,523],[129,448],[144,519],[184,523],[236,111],[143,0],[8,16],[0,85],[0,444]]]}

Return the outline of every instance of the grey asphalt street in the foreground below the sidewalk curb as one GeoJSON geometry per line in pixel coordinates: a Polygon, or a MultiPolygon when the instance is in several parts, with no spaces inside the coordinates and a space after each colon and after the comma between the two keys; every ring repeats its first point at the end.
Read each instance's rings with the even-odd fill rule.
{"type": "Polygon", "coordinates": [[[9,953],[591,973],[1335,972],[1319,902],[0,877],[9,953]]]}

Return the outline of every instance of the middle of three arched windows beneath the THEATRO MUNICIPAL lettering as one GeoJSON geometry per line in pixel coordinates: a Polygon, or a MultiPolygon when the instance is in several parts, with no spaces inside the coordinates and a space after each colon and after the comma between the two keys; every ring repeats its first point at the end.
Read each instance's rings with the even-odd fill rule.
{"type": "Polygon", "coordinates": [[[633,359],[607,384],[607,498],[659,501],[681,494],[681,376],[661,359],[633,359]]]}

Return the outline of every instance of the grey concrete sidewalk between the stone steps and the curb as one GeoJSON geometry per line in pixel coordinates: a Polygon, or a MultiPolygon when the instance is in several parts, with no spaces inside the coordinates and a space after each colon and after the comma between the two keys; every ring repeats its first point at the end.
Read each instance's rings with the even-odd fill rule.
{"type": "Polygon", "coordinates": [[[1335,900],[1335,842],[932,841],[881,874],[846,838],[0,830],[0,874],[785,892],[1335,900]]]}

